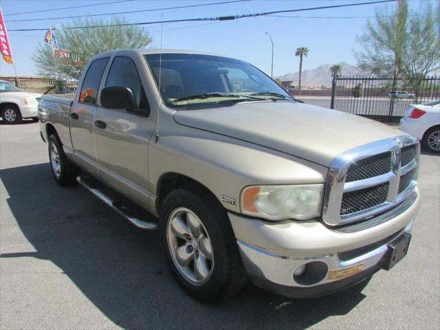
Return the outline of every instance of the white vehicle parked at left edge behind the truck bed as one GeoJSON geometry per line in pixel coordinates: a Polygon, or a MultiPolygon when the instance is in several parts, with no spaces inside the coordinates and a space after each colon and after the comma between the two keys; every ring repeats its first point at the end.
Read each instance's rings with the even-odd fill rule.
{"type": "Polygon", "coordinates": [[[23,118],[38,120],[41,94],[28,93],[5,80],[0,80],[0,116],[7,124],[17,124],[23,118]]]}

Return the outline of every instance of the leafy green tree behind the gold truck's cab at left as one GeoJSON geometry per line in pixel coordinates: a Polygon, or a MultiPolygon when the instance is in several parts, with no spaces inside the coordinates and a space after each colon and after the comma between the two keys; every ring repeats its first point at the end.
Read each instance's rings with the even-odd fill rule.
{"type": "Polygon", "coordinates": [[[87,18],[74,20],[71,24],[56,28],[52,32],[56,37],[58,49],[72,52],[75,55],[76,65],[65,60],[54,59],[52,47],[40,43],[32,56],[36,73],[54,77],[59,84],[59,81],[67,78],[78,79],[91,56],[109,50],[143,48],[151,43],[151,38],[144,28],[137,25],[124,25],[125,23],[127,23],[126,20],[119,17],[113,17],[109,21],[87,18]],[[69,29],[77,27],[85,28],[69,29]]]}

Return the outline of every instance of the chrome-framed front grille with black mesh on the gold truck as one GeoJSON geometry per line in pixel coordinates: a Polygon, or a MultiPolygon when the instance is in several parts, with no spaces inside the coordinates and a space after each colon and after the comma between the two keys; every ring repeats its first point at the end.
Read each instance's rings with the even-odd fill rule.
{"type": "Polygon", "coordinates": [[[419,144],[401,135],[338,155],[329,169],[322,210],[328,225],[362,221],[404,201],[415,188],[419,144]]]}

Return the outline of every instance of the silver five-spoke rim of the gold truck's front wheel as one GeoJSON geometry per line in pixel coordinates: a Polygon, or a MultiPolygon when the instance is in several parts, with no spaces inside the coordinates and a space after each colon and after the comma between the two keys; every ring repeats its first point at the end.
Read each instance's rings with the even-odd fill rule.
{"type": "Polygon", "coordinates": [[[214,270],[212,244],[199,217],[188,208],[171,212],[166,240],[177,270],[192,285],[206,283],[214,270]]]}

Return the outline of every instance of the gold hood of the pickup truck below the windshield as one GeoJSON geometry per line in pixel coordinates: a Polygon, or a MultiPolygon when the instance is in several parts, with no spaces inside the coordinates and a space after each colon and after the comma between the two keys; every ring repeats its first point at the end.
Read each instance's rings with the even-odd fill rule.
{"type": "Polygon", "coordinates": [[[323,166],[355,146],[401,135],[358,115],[296,102],[243,102],[174,113],[179,124],[259,144],[323,166]]]}

